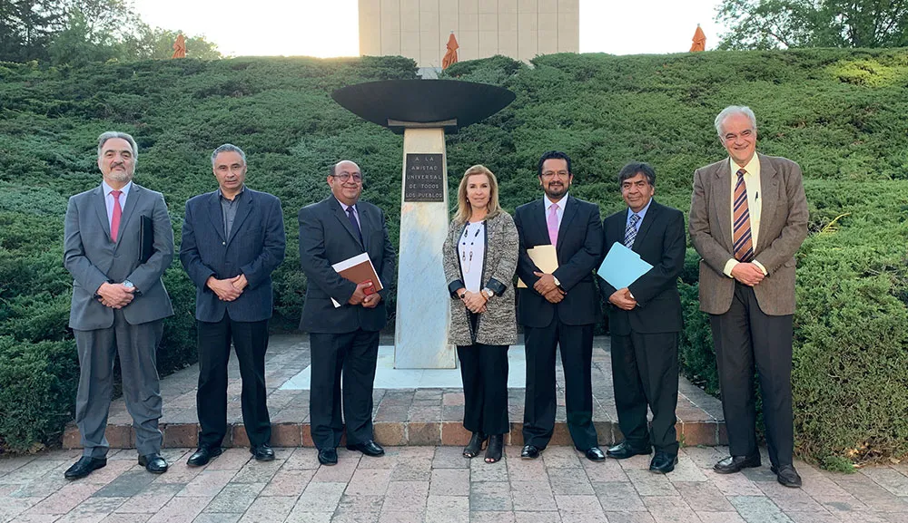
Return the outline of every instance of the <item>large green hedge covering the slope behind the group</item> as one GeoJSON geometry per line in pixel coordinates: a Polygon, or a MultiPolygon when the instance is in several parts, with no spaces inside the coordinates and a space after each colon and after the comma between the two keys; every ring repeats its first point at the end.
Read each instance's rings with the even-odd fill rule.
{"type": "MultiPolygon", "coordinates": [[[[811,236],[797,256],[798,453],[827,464],[908,453],[908,50],[566,53],[540,56],[532,65],[495,57],[445,72],[517,94],[505,110],[447,137],[449,189],[482,162],[498,176],[503,207],[513,210],[538,198],[539,154],[560,149],[575,160],[571,193],[597,202],[604,216],[623,206],[615,175],[628,160],[652,163],[656,199],[686,211],[694,169],[725,156],[712,128],[716,113],[732,103],[750,105],[760,124],[760,150],[802,165],[811,206],[811,236]]],[[[32,358],[35,366],[42,364],[40,354],[72,351],[63,214],[70,195],[98,183],[94,140],[108,129],[139,140],[136,181],[163,192],[178,242],[185,200],[215,187],[211,150],[231,141],[247,152],[250,187],[274,193],[283,204],[287,258],[274,275],[271,324],[294,329],[306,288],[296,216],[328,194],[331,163],[360,163],[364,198],[387,211],[395,244],[399,232],[400,137],[343,110],[331,91],[415,72],[415,63],[400,57],[171,60],[80,69],[0,64],[4,350],[32,358]]],[[[688,249],[681,358],[685,373],[715,393],[715,355],[696,304],[696,261],[688,249]]],[[[162,373],[195,358],[192,285],[178,264],[164,281],[177,314],[165,324],[162,373]]],[[[60,357],[47,356],[46,364],[62,365],[60,357]]],[[[74,351],[67,357],[72,363],[74,351]]],[[[0,375],[15,375],[7,368],[12,361],[0,357],[0,375]]],[[[36,374],[41,383],[23,392],[28,397],[0,396],[0,418],[20,403],[71,412],[73,395],[59,391],[60,383],[71,383],[74,366],[54,369],[36,374]]],[[[53,443],[65,418],[0,425],[0,449],[53,443]]]]}

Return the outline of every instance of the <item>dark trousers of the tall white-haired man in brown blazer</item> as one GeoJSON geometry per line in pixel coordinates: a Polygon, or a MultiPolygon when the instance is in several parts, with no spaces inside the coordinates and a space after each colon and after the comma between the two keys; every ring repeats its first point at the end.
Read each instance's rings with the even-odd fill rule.
{"type": "Polygon", "coordinates": [[[769,460],[790,465],[795,447],[792,413],[792,316],[760,310],[754,289],[735,282],[732,306],[710,315],[722,412],[732,456],[751,456],[756,446],[754,368],[763,392],[763,416],[769,460]]]}

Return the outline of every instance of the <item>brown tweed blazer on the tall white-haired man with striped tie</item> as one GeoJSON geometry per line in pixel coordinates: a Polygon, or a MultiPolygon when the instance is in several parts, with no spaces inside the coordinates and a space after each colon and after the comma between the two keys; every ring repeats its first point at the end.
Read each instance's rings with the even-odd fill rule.
{"type": "MultiPolygon", "coordinates": [[[[801,168],[792,160],[759,155],[760,235],[755,259],[769,273],[754,287],[766,315],[795,314],[795,252],[807,237],[807,199],[801,168]]],[[[700,260],[700,310],[728,311],[735,280],[722,272],[732,256],[731,169],[728,159],[694,172],[690,239],[700,260]]]]}

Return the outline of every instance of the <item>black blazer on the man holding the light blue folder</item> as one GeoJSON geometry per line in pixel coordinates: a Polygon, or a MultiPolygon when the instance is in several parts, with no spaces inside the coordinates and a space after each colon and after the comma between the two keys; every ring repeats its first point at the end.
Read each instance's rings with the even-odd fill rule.
{"type": "MultiPolygon", "coordinates": [[[[626,227],[627,208],[602,222],[606,253],[615,242],[624,243],[626,227]]],[[[680,210],[652,200],[631,247],[653,266],[628,287],[630,294],[637,299],[637,307],[625,311],[608,303],[608,297],[617,289],[599,278],[599,289],[608,304],[608,327],[612,334],[627,335],[631,331],[641,334],[674,333],[682,329],[677,279],[684,268],[684,231],[684,215],[680,210]]]]}

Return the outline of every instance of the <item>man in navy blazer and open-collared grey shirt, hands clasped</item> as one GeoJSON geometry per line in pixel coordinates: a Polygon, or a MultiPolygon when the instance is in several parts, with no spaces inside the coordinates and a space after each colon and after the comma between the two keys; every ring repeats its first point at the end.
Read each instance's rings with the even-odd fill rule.
{"type": "Polygon", "coordinates": [[[265,392],[271,272],[286,240],[281,200],[245,186],[246,155],[225,143],[212,153],[219,188],[186,202],[180,260],[196,286],[199,448],[189,465],[221,454],[227,434],[227,362],[240,363],[242,422],[256,460],[274,459],[265,392]]]}

